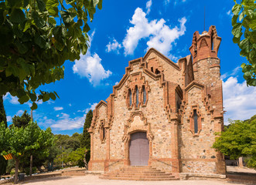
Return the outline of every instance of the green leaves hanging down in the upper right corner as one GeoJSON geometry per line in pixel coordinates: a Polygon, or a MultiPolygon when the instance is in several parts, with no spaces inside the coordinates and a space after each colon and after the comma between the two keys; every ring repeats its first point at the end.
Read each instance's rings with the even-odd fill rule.
{"type": "Polygon", "coordinates": [[[238,4],[237,0],[234,2],[233,42],[240,47],[240,55],[248,61],[247,64],[241,65],[247,85],[256,86],[256,3],[254,0],[242,0],[241,4],[238,4]]]}

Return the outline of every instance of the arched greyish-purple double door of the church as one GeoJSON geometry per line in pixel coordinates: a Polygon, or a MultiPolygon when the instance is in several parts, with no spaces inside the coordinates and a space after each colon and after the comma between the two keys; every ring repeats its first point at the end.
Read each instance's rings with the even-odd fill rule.
{"type": "Polygon", "coordinates": [[[131,134],[129,156],[131,166],[148,166],[149,143],[146,133],[131,134]]]}

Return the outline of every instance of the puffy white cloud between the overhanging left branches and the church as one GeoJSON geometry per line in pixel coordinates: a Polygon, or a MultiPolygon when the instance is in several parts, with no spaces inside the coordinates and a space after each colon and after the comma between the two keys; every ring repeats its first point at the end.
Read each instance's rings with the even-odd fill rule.
{"type": "MultiPolygon", "coordinates": [[[[90,42],[92,42],[94,33],[95,32],[90,35],[90,42]]],[[[110,70],[106,71],[104,69],[99,55],[97,55],[96,52],[91,54],[90,49],[87,50],[86,55],[81,54],[80,59],[75,60],[75,64],[73,65],[73,73],[77,73],[80,77],[87,77],[93,86],[100,85],[101,80],[107,79],[112,74],[110,70]]]]}

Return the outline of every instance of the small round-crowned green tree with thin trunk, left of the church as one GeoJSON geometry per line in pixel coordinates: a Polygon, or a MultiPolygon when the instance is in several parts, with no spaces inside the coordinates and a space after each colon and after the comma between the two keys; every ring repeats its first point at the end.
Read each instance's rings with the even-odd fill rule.
{"type": "Polygon", "coordinates": [[[15,160],[15,183],[17,183],[19,161],[31,153],[46,157],[49,146],[53,146],[53,133],[50,128],[41,130],[36,123],[29,122],[24,127],[12,126],[5,128],[0,123],[0,148],[4,149],[1,155],[12,153],[15,160]]]}

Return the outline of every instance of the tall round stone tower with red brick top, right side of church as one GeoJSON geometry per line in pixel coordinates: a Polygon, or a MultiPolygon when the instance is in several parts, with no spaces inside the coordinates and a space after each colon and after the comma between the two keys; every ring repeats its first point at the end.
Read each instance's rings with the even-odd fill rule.
{"type": "MultiPolygon", "coordinates": [[[[206,88],[206,97],[211,104],[211,122],[214,124],[214,132],[224,130],[224,109],[222,80],[220,79],[220,59],[218,50],[221,38],[217,35],[214,25],[209,31],[194,32],[192,45],[189,50],[193,57],[193,73],[196,82],[206,88]]],[[[226,172],[225,162],[220,152],[216,154],[216,173],[226,172]]]]}

